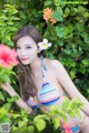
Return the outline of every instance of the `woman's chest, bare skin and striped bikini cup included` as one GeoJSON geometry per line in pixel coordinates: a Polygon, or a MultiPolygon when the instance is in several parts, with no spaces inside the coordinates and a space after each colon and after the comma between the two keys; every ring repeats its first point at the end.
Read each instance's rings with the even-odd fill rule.
{"type": "Polygon", "coordinates": [[[53,104],[63,93],[63,90],[53,72],[46,72],[44,78],[42,78],[42,75],[36,78],[34,85],[38,90],[38,98],[36,100],[30,100],[32,101],[32,105],[39,103],[44,106],[53,104]]]}

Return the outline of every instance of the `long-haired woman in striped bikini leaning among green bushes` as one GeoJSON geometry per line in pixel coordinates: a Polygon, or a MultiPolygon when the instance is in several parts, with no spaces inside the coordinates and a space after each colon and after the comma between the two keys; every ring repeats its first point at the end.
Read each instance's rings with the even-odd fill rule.
{"type": "MultiPolygon", "coordinates": [[[[79,133],[80,130],[82,133],[89,133],[89,102],[79,93],[59,61],[41,57],[42,40],[42,35],[33,25],[21,28],[13,39],[20,62],[21,98],[19,96],[17,104],[22,109],[27,109],[29,114],[37,108],[42,111],[50,111],[52,104],[58,105],[60,109],[67,98],[65,95],[67,92],[71,99],[79,98],[85,104],[83,111],[80,111],[82,119],[72,119],[68,115],[68,125],[73,133],[79,133]],[[73,125],[79,125],[85,116],[82,125],[73,127],[73,125]]],[[[3,84],[2,88],[11,96],[17,94],[9,83],[3,84]]]]}

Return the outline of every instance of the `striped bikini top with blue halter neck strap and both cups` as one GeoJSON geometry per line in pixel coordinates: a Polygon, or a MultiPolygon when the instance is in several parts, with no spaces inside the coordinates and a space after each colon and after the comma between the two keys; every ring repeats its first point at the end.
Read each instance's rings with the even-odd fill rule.
{"type": "MultiPolygon", "coordinates": [[[[41,58],[41,71],[42,71],[42,85],[40,89],[40,92],[38,94],[38,100],[41,103],[41,105],[52,105],[55,102],[57,102],[60,99],[59,91],[51,85],[49,82],[46,81],[44,72],[48,71],[47,66],[43,62],[43,58],[41,58]]],[[[27,103],[32,106],[32,109],[38,109],[38,102],[32,102],[31,100],[28,100],[27,103]]]]}

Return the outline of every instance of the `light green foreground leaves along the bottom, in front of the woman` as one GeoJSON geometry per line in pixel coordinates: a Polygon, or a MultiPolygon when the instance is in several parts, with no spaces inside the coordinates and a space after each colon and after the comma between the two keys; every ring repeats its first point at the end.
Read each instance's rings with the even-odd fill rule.
{"type": "MultiPolygon", "coordinates": [[[[1,98],[1,100],[3,99],[1,98]]],[[[46,133],[44,130],[48,125],[52,126],[51,133],[53,131],[59,133],[60,116],[65,122],[68,121],[67,114],[71,117],[81,116],[79,109],[82,108],[82,103],[78,99],[72,99],[72,101],[66,99],[61,109],[52,105],[50,112],[40,111],[40,114],[37,115],[28,115],[27,110],[13,112],[11,105],[17,100],[17,95],[7,98],[7,103],[0,108],[0,123],[9,123],[11,133],[46,133]]]]}

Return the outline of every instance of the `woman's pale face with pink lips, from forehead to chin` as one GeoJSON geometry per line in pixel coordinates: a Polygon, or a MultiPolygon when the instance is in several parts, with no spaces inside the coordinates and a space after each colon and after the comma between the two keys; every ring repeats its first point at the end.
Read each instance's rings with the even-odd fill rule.
{"type": "Polygon", "coordinates": [[[38,57],[37,43],[30,37],[17,41],[17,54],[22,64],[30,64],[38,57]]]}

